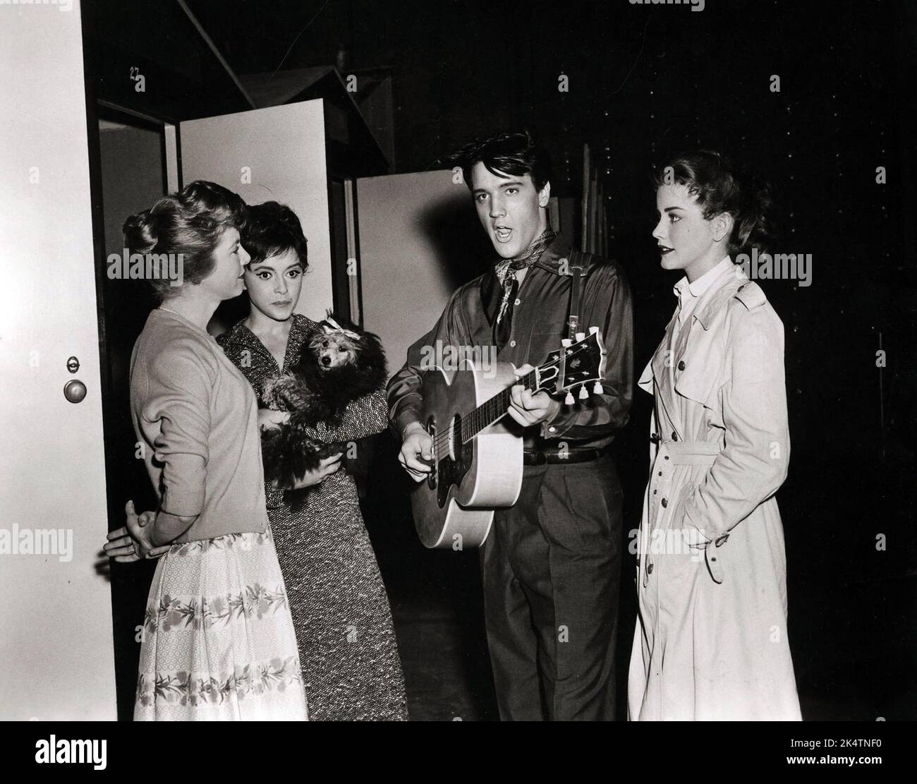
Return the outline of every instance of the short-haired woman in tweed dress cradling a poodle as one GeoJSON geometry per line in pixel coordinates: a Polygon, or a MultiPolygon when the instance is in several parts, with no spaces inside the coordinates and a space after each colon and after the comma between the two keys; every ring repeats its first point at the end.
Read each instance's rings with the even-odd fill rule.
{"type": "MultiPolygon", "coordinates": [[[[245,284],[249,316],[217,341],[248,378],[261,383],[289,370],[318,329],[293,314],[306,267],[299,220],[282,204],[250,208],[243,245],[251,261],[245,284]]],[[[282,414],[278,413],[278,416],[282,414]]],[[[320,423],[323,441],[356,442],[385,429],[382,390],[351,403],[343,422],[320,423]]],[[[359,445],[356,445],[359,448],[359,445]]],[[[407,718],[392,613],[357,487],[340,457],[306,474],[292,493],[267,489],[268,515],[299,641],[309,718],[313,721],[396,721],[407,718]]]]}

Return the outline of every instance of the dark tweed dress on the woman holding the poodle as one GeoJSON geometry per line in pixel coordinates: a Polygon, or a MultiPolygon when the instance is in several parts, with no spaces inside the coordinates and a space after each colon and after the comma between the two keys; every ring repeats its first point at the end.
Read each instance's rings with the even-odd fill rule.
{"type": "MultiPolygon", "coordinates": [[[[284,371],[318,326],[293,315],[284,371]]],[[[254,387],[280,369],[271,352],[241,321],[217,337],[226,356],[254,387]]],[[[341,425],[324,423],[315,436],[355,441],[387,426],[383,391],[348,406],[341,425]]],[[[346,469],[304,493],[266,488],[268,517],[299,643],[312,721],[407,719],[401,660],[392,612],[376,556],[359,511],[357,486],[346,469]]]]}

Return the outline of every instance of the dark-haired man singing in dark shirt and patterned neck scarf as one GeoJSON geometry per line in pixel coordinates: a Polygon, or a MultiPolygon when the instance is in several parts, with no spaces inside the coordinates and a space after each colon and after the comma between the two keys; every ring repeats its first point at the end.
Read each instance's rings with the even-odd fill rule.
{"type": "MultiPolygon", "coordinates": [[[[447,465],[458,465],[455,476],[469,465],[470,473],[499,472],[498,462],[482,470],[477,452],[472,458],[466,451],[481,426],[502,416],[491,429],[499,426],[503,438],[521,439],[523,465],[509,494],[515,502],[487,513],[481,546],[500,715],[504,721],[612,720],[622,495],[609,447],[631,403],[630,289],[618,264],[572,251],[550,230],[549,162],[527,133],[472,143],[459,151],[458,162],[499,258],[491,271],[452,295],[436,326],[408,350],[407,362],[389,383],[392,427],[403,439],[399,459],[414,480],[425,482],[416,495],[426,485],[435,488],[437,471],[445,476],[447,465]],[[573,349],[571,341],[561,349],[571,316],[574,323],[579,316],[584,331],[569,336],[578,341],[573,349]],[[593,335],[581,340],[586,331],[593,335]],[[574,352],[590,341],[604,344],[601,370],[595,376],[584,370],[578,377],[574,369],[585,354],[574,352]],[[425,392],[432,394],[425,376],[432,374],[424,372],[421,357],[428,355],[425,347],[435,345],[455,347],[458,356],[470,347],[495,347],[497,359],[513,363],[521,382],[508,395],[479,405],[489,418],[481,420],[475,411],[434,422],[425,406],[425,392]],[[564,350],[566,362],[558,359],[564,350]],[[529,364],[546,358],[554,361],[538,369],[529,364]],[[558,378],[547,387],[552,393],[541,378],[549,372],[558,378]],[[578,379],[579,400],[558,394],[578,379]],[[472,429],[472,436],[455,436],[472,429]],[[465,441],[469,444],[456,447],[465,441]]],[[[440,394],[448,387],[437,389],[440,394]]],[[[507,452],[505,462],[513,459],[507,452]]],[[[439,501],[442,505],[442,497],[439,501]]],[[[415,504],[415,515],[420,508],[415,504]]]]}

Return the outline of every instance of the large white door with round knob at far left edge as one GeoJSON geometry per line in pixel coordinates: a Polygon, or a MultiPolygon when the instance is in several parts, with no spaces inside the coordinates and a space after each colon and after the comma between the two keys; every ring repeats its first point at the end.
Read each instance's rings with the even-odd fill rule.
{"type": "Polygon", "coordinates": [[[114,719],[80,8],[0,17],[0,719],[114,719]]]}

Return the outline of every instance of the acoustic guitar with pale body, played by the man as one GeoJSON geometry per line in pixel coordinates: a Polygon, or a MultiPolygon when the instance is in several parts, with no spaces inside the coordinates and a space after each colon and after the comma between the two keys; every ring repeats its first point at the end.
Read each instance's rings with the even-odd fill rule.
{"type": "MultiPolygon", "coordinates": [[[[599,328],[565,338],[544,364],[516,378],[513,365],[497,362],[490,370],[469,362],[462,370],[426,370],[421,392],[423,424],[433,438],[431,471],[414,488],[414,525],[425,547],[480,547],[490,533],[493,510],[512,506],[523,477],[523,439],[503,417],[510,387],[532,392],[573,391],[585,400],[602,393],[605,349],[599,328]]],[[[514,420],[511,420],[516,425],[514,420]]]]}

